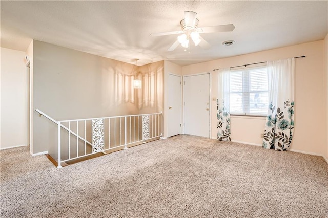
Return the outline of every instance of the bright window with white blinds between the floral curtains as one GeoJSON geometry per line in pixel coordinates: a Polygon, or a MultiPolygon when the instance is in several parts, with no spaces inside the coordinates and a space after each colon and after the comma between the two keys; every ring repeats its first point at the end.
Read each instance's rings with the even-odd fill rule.
{"type": "Polygon", "coordinates": [[[230,71],[230,114],[267,115],[267,67],[230,71]]]}

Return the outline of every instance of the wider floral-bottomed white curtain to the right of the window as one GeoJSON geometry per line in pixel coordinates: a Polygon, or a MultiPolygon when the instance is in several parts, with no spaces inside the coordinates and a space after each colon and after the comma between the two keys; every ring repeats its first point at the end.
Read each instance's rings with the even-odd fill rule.
{"type": "Polygon", "coordinates": [[[264,148],[290,148],[294,132],[294,65],[294,58],[268,61],[269,110],[264,148]]]}

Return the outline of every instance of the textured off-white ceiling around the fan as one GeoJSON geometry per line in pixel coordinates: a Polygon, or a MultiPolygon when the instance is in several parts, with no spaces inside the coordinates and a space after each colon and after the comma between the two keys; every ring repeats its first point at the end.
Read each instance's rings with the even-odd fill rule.
{"type": "Polygon", "coordinates": [[[1,1],[1,47],[26,51],[31,39],[135,64],[169,60],[181,66],[323,39],[328,1],[1,1]],[[199,27],[234,24],[233,32],[203,33],[211,48],[168,48],[184,11],[199,27]],[[234,40],[232,46],[222,42],[234,40]]]}

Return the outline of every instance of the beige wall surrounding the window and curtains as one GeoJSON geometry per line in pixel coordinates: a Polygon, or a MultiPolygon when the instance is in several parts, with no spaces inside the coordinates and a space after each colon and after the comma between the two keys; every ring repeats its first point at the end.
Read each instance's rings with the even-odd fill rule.
{"type": "MultiPolygon", "coordinates": [[[[305,55],[306,58],[295,59],[295,132],[291,149],[324,155],[327,152],[325,143],[327,84],[324,80],[323,44],[324,41],[320,40],[192,64],[182,67],[182,73],[187,75],[212,72],[212,99],[212,97],[217,97],[217,71],[213,69],[305,55]]],[[[211,109],[212,138],[216,138],[216,107],[213,103],[211,109]]],[[[234,116],[231,119],[232,140],[260,145],[262,144],[260,134],[264,130],[264,125],[264,119],[234,116]]]]}

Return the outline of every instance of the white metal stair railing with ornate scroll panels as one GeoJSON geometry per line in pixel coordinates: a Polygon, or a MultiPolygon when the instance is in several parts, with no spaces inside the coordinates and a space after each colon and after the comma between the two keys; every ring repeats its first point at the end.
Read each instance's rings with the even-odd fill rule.
{"type": "Polygon", "coordinates": [[[127,149],[129,145],[162,136],[162,112],[56,121],[38,109],[35,111],[58,125],[58,168],[66,161],[98,152],[106,154],[105,151],[127,149]]]}

